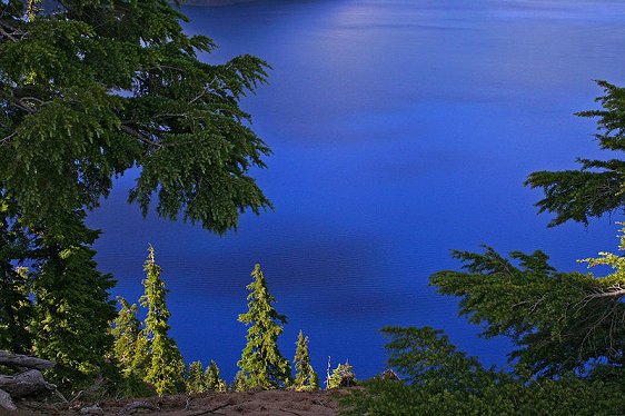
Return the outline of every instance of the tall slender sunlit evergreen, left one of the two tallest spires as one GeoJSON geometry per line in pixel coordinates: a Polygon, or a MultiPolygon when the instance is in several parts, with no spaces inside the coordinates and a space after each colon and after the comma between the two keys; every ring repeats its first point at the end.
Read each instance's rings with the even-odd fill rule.
{"type": "Polygon", "coordinates": [[[147,274],[143,280],[146,291],[140,301],[148,308],[145,333],[149,340],[146,382],[155,387],[159,396],[175,394],[183,386],[185,361],[176,341],[167,334],[170,328],[167,321],[171,316],[166,304],[168,290],[160,279],[161,268],[156,264],[152,246],[148,248],[143,270],[147,274]]]}

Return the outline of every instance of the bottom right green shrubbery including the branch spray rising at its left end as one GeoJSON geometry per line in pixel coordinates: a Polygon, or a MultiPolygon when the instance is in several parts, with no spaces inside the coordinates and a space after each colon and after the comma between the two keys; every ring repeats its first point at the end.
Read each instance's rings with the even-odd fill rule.
{"type": "Polygon", "coordinates": [[[403,382],[375,378],[341,399],[345,415],[613,415],[625,408],[623,369],[524,382],[485,369],[431,328],[386,327],[388,365],[403,382]],[[603,374],[602,374],[603,373],[603,374]]]}

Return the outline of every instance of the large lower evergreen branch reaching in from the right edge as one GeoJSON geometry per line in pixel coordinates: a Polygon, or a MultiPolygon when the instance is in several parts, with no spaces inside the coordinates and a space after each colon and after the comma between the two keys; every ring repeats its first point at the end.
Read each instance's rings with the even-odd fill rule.
{"type": "Polygon", "coordinates": [[[518,267],[492,248],[484,255],[454,251],[454,257],[467,271],[439,271],[431,284],[444,295],[460,297],[460,314],[484,325],[486,337],[509,337],[517,346],[510,358],[530,373],[550,377],[585,372],[595,361],[624,364],[621,257],[604,254],[586,260],[616,268],[603,278],[556,271],[542,251],[512,252],[518,267]]]}

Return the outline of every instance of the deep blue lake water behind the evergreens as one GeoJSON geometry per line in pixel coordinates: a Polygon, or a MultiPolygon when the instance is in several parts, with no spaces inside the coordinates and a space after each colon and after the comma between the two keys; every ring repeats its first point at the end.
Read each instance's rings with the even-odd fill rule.
{"type": "MultiPolygon", "coordinates": [[[[563,270],[616,250],[621,217],[547,229],[534,170],[599,156],[593,79],[625,85],[625,6],[579,0],[309,0],[188,7],[189,31],[274,67],[244,107],[275,155],[255,176],[275,212],[244,217],[220,238],[126,204],[127,175],[90,217],[100,268],[117,294],[141,294],[155,245],[171,289],[172,335],[188,361],[216,359],[227,378],[245,345],[246,284],[260,263],[277,309],[299,329],[316,369],[384,368],[385,325],[429,325],[487,364],[508,344],[483,340],[456,300],[427,286],[458,264],[449,249],[543,249],[563,270]]],[[[321,376],[323,377],[323,376],[321,376]]]]}

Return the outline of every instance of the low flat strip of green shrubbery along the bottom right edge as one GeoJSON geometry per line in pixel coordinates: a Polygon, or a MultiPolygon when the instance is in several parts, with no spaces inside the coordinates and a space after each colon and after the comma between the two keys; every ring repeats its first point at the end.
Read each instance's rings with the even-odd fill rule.
{"type": "Polygon", "coordinates": [[[625,384],[566,377],[486,384],[476,393],[374,379],[340,399],[341,415],[615,415],[625,408],[625,384]]]}

